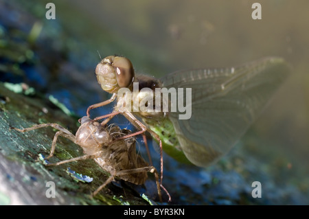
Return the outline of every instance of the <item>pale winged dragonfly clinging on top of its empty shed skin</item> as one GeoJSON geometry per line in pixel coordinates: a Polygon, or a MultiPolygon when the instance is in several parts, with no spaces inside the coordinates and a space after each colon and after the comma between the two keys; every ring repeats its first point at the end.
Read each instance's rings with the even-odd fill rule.
{"type": "MultiPolygon", "coordinates": [[[[206,167],[220,159],[240,139],[289,72],[290,67],[282,58],[269,57],[237,67],[178,71],[157,79],[135,76],[127,58],[107,56],[97,65],[95,73],[102,89],[113,96],[89,106],[87,115],[92,108],[117,99],[113,113],[97,119],[108,117],[107,122],[121,113],[139,128],[128,137],[148,130],[155,139],[162,140],[161,147],[174,159],[206,167]],[[139,85],[138,95],[134,95],[134,82],[139,85]],[[141,102],[141,97],[150,94],[155,97],[155,89],[163,87],[191,89],[191,103],[187,102],[192,109],[189,119],[179,119],[180,111],[129,111],[125,107],[128,99],[125,95],[117,95],[120,89],[128,88],[133,92],[128,95],[138,99],[133,98],[132,102],[141,102]]],[[[162,162],[161,159],[161,168],[162,162]]]]}

